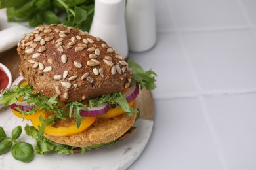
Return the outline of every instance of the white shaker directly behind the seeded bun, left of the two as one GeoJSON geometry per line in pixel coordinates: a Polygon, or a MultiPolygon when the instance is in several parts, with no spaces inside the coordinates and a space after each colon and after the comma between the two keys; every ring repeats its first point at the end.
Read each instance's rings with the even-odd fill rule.
{"type": "Polygon", "coordinates": [[[128,55],[125,27],[125,0],[95,0],[95,13],[90,34],[100,37],[123,58],[128,55]]]}

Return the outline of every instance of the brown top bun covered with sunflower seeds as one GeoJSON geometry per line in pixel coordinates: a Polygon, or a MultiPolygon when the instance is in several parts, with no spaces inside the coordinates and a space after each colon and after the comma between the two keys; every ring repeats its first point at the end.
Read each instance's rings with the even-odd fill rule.
{"type": "Polygon", "coordinates": [[[131,82],[131,69],[114,48],[74,27],[36,27],[20,39],[17,50],[28,83],[62,101],[114,93],[131,82]]]}

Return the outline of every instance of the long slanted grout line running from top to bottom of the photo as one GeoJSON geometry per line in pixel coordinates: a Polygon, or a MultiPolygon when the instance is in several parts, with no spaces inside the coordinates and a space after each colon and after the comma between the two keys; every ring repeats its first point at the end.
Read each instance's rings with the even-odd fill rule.
{"type": "MultiPolygon", "coordinates": [[[[171,10],[171,5],[170,5],[169,1],[167,1],[167,0],[165,0],[165,1],[167,2],[168,8],[171,10]]],[[[170,13],[171,13],[171,11],[170,11],[170,13]]],[[[171,14],[170,18],[171,18],[171,21],[173,22],[173,25],[174,25],[175,29],[176,29],[176,34],[178,36],[179,43],[180,43],[181,48],[182,48],[182,52],[184,53],[184,59],[186,61],[186,65],[188,66],[188,71],[190,72],[190,75],[192,76],[192,80],[194,82],[194,85],[196,86],[196,90],[199,93],[198,94],[198,99],[200,101],[200,105],[202,107],[202,112],[203,112],[203,115],[204,115],[205,120],[207,122],[207,126],[209,127],[209,130],[211,132],[211,137],[213,138],[215,148],[216,148],[217,154],[219,156],[219,160],[221,161],[221,165],[222,165],[223,169],[228,170],[228,165],[226,163],[226,159],[224,158],[224,153],[223,153],[223,150],[221,148],[221,144],[219,143],[219,139],[217,137],[215,129],[214,129],[213,125],[211,124],[211,120],[209,118],[209,110],[207,109],[206,104],[205,104],[205,100],[203,99],[202,88],[201,88],[201,86],[198,82],[198,77],[196,76],[196,73],[194,72],[192,62],[190,61],[190,58],[188,57],[188,54],[186,52],[186,47],[184,45],[184,42],[182,41],[182,33],[181,33],[181,31],[179,31],[179,29],[177,29],[177,23],[175,22],[175,18],[172,14],[171,14]]]]}

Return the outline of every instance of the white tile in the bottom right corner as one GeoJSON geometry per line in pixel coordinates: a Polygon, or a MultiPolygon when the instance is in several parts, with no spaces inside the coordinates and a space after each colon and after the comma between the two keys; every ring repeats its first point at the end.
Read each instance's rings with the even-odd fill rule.
{"type": "Polygon", "coordinates": [[[256,93],[205,97],[228,168],[256,169],[256,93]]]}

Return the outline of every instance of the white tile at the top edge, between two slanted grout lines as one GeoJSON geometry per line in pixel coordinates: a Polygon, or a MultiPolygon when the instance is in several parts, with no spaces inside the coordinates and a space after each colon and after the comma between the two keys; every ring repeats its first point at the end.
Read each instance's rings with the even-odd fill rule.
{"type": "Polygon", "coordinates": [[[179,29],[215,29],[247,25],[234,0],[169,0],[179,29]]]}

